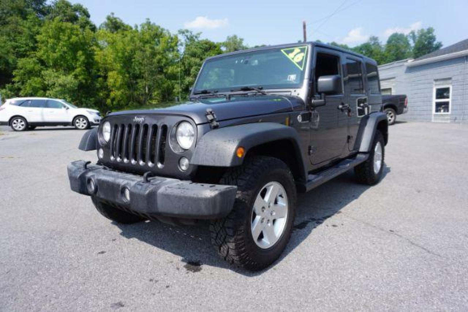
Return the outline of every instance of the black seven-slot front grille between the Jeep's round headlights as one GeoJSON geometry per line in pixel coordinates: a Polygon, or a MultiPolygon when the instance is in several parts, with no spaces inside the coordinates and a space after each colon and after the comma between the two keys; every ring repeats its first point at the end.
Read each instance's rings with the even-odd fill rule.
{"type": "Polygon", "coordinates": [[[166,124],[114,124],[110,133],[110,160],[162,167],[167,137],[166,124]]]}

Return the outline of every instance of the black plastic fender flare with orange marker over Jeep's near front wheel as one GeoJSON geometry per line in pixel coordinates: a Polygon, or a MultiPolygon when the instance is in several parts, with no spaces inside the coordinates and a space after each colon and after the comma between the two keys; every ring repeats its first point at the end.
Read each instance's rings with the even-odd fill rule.
{"type": "Polygon", "coordinates": [[[243,158],[237,157],[237,147],[244,147],[247,154],[252,147],[283,139],[291,141],[301,169],[304,169],[297,131],[280,123],[248,123],[212,130],[198,141],[190,163],[213,167],[239,166],[243,158]]]}

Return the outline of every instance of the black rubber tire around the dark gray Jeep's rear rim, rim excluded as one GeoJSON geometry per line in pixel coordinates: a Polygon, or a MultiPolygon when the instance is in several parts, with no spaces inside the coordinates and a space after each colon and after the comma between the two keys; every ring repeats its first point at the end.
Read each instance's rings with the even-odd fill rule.
{"type": "Polygon", "coordinates": [[[375,131],[374,139],[372,142],[371,152],[369,153],[369,158],[359,164],[358,166],[354,167],[354,174],[356,174],[356,179],[359,183],[366,184],[366,185],[374,185],[377,184],[383,175],[383,169],[385,167],[385,141],[383,138],[382,133],[379,130],[375,131]],[[377,143],[380,143],[382,147],[382,164],[380,166],[379,172],[376,174],[374,172],[374,154],[375,154],[375,146],[377,143]]]}

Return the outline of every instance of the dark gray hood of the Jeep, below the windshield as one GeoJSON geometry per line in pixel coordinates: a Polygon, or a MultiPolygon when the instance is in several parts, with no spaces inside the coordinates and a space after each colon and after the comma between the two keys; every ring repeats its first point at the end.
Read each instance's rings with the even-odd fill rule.
{"type": "Polygon", "coordinates": [[[206,109],[212,109],[218,121],[248,116],[260,116],[303,109],[304,102],[294,96],[254,95],[236,96],[227,101],[224,97],[204,98],[169,106],[162,109],[141,109],[115,112],[115,115],[181,115],[188,116],[197,124],[207,123],[206,109]]]}

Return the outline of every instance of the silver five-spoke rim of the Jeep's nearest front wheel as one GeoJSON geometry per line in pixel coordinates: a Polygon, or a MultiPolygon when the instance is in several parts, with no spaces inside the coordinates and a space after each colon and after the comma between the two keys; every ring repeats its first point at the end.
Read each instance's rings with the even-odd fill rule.
{"type": "Polygon", "coordinates": [[[252,237],[262,249],[273,246],[285,231],[288,196],[285,188],[272,181],[258,192],[251,217],[252,237]]]}

